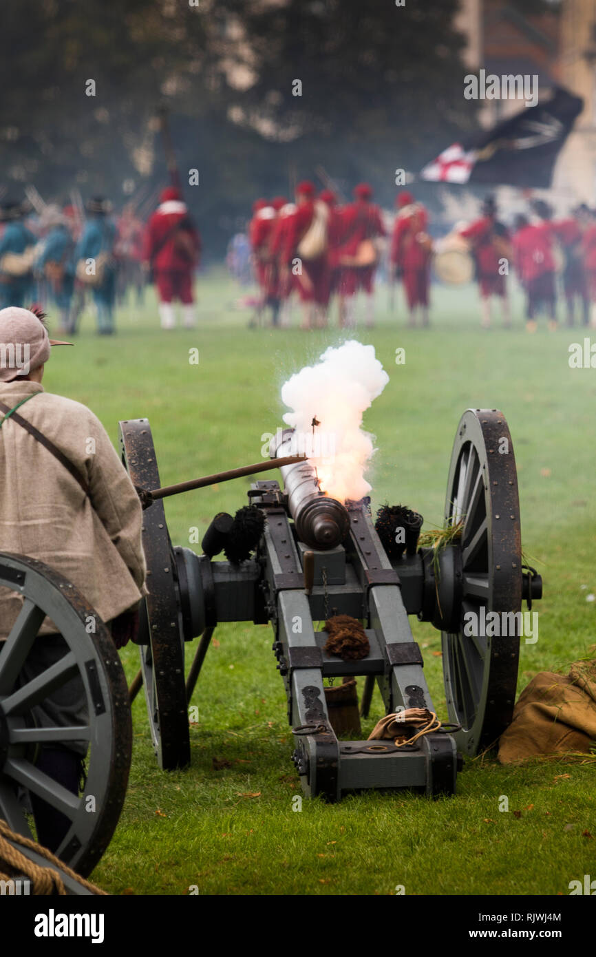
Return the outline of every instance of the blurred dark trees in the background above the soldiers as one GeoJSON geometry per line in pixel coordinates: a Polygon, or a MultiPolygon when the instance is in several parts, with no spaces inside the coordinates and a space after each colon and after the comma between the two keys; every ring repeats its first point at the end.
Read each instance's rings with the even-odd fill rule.
{"type": "MultiPolygon", "coordinates": [[[[390,205],[475,124],[457,0],[19,0],[2,11],[0,182],[117,206],[167,179],[166,102],[188,204],[220,253],[257,195],[328,171],[390,205]],[[91,82],[90,82],[91,81],[91,82]],[[90,93],[94,95],[89,95],[90,93]],[[187,186],[188,170],[198,187],[187,186]]],[[[424,188],[423,188],[424,189],[424,188]]]]}

